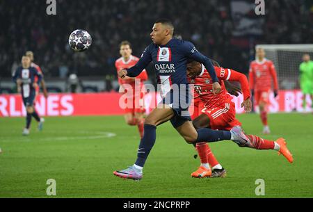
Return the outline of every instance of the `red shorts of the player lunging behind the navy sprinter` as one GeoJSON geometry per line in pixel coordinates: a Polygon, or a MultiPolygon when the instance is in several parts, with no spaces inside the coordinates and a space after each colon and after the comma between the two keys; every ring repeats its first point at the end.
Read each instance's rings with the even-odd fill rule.
{"type": "Polygon", "coordinates": [[[232,101],[216,108],[203,108],[202,113],[209,117],[211,129],[230,130],[241,126],[239,120],[236,120],[236,108],[232,101]]]}

